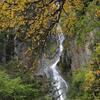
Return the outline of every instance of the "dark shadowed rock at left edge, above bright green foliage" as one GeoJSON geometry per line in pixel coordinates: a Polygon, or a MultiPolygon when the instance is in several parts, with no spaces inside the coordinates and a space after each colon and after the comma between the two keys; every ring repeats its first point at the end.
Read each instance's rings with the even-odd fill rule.
{"type": "Polygon", "coordinates": [[[0,35],[0,63],[14,58],[14,35],[0,35]]]}

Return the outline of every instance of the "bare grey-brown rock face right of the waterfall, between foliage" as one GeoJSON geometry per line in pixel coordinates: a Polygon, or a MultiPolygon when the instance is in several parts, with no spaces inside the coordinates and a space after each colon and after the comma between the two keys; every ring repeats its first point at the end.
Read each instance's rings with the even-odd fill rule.
{"type": "Polygon", "coordinates": [[[96,32],[99,29],[94,29],[93,31],[87,33],[84,45],[80,46],[77,44],[77,37],[70,40],[65,40],[64,45],[68,43],[64,48],[64,53],[61,57],[60,66],[62,66],[63,71],[68,72],[70,69],[74,70],[81,65],[85,65],[91,59],[92,46],[95,45],[96,32]]]}

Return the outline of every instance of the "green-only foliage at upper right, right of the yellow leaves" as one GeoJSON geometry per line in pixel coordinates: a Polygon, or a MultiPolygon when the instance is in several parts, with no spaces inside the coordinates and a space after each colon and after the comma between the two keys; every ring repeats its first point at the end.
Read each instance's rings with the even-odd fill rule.
{"type": "Polygon", "coordinates": [[[96,5],[96,1],[89,3],[86,8],[85,15],[81,16],[75,25],[75,32],[77,33],[78,44],[85,43],[87,33],[100,27],[99,16],[96,16],[96,12],[100,7],[96,5]]]}

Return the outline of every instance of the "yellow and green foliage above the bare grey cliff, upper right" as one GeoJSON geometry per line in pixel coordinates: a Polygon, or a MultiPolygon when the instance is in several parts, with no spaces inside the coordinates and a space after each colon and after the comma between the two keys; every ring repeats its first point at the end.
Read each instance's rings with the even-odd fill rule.
{"type": "Polygon", "coordinates": [[[79,45],[85,44],[87,33],[100,27],[99,0],[66,0],[61,16],[63,31],[71,38],[76,36],[79,45]]]}

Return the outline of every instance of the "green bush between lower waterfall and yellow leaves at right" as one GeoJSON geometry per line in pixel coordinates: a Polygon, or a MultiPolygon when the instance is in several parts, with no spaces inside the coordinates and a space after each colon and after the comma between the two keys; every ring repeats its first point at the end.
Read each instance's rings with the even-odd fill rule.
{"type": "Polygon", "coordinates": [[[71,100],[85,100],[83,99],[84,90],[82,85],[86,78],[86,70],[78,69],[72,73],[71,85],[69,90],[69,98],[71,100]]]}

